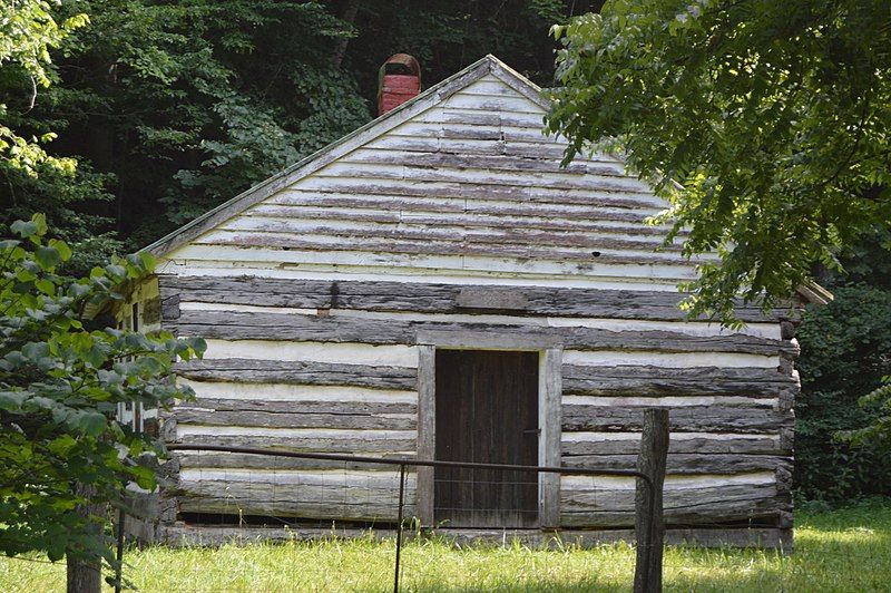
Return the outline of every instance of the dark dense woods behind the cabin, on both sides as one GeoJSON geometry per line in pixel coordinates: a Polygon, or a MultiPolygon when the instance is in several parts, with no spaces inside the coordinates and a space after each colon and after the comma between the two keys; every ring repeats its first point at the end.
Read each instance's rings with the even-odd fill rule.
{"type": "MultiPolygon", "coordinates": [[[[405,51],[428,87],[486,54],[554,80],[549,27],[601,2],[575,0],[70,0],[87,14],[52,54],[51,86],[0,68],[0,124],[74,157],[35,171],[0,159],[0,234],[45,212],[75,247],[72,273],[137,250],[371,119],[378,68],[405,51]]],[[[828,308],[801,329],[797,484],[839,503],[891,490],[878,453],[833,440],[862,426],[856,399],[891,375],[891,263],[883,237],[823,281],[828,308]]]]}

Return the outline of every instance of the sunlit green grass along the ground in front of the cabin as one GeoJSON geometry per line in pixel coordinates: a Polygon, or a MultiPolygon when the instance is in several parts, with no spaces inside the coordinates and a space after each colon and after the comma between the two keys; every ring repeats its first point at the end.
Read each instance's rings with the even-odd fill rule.
{"type": "MultiPolygon", "coordinates": [[[[672,547],[668,591],[891,591],[891,502],[796,515],[795,552],[672,547]]],[[[634,550],[409,543],[404,591],[629,591],[634,550]]],[[[140,591],[388,591],[393,542],[293,543],[127,555],[140,591]]],[[[65,566],[0,558],[0,591],[65,591],[65,566]]]]}

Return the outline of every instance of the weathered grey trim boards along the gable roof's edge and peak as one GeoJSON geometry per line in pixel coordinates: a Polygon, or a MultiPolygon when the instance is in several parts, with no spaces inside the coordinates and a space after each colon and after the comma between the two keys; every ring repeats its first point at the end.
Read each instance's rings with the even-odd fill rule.
{"type": "Polygon", "coordinates": [[[433,107],[486,75],[497,77],[520,95],[523,95],[526,98],[541,106],[542,109],[550,108],[550,103],[541,96],[540,87],[490,54],[480,58],[463,70],[430,87],[395,109],[388,111],[376,119],[372,119],[355,132],[329,144],[321,150],[298,161],[281,173],[273,175],[268,179],[258,183],[242,194],[198,216],[194,221],[180,226],[173,233],[151,243],[143,251],[147,251],[157,256],[166,255],[176,247],[210,231],[218,224],[241,214],[283,187],[319,171],[344,154],[404,124],[410,118],[433,107]]]}

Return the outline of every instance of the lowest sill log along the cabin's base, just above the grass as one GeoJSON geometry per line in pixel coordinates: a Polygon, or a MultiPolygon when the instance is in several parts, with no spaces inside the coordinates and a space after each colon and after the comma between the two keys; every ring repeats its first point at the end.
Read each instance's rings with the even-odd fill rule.
{"type": "MultiPolygon", "coordinates": [[[[271,524],[277,522],[270,522],[271,524]]],[[[665,531],[665,543],[668,545],[695,545],[701,547],[782,547],[784,552],[792,550],[785,529],[773,527],[723,527],[723,528],[668,528],[665,531]]],[[[395,531],[384,526],[374,529],[345,528],[337,525],[313,527],[309,525],[227,526],[176,524],[163,525],[158,528],[159,543],[172,547],[244,545],[257,542],[294,542],[317,539],[366,539],[371,536],[391,538],[395,531]]],[[[435,529],[435,535],[459,545],[502,544],[520,542],[530,547],[565,546],[576,544],[581,547],[635,542],[634,529],[561,529],[539,532],[531,529],[435,529]]],[[[403,537],[412,539],[417,534],[405,532],[403,537]]]]}

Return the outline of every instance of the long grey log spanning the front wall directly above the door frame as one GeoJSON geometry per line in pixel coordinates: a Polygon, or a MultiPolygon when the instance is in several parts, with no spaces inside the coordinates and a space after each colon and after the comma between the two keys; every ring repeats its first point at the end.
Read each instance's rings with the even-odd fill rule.
{"type": "MultiPolygon", "coordinates": [[[[461,299],[459,293],[457,298],[461,299]]],[[[515,293],[516,294],[516,293],[515,293]]],[[[498,303],[495,304],[498,307],[498,303]]],[[[515,308],[528,307],[515,304],[515,308]]],[[[422,331],[488,331],[531,342],[557,338],[571,350],[653,352],[736,352],[777,356],[794,348],[792,342],[756,336],[691,336],[663,330],[610,331],[580,327],[529,327],[493,323],[454,323],[421,320],[362,319],[350,317],[294,315],[235,311],[182,311],[176,327],[183,334],[224,340],[297,340],[417,344],[422,331]]]]}

